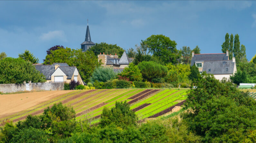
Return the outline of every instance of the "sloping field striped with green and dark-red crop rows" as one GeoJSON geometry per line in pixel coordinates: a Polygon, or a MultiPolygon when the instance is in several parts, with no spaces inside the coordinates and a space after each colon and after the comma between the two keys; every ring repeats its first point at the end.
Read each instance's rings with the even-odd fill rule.
{"type": "MultiPolygon", "coordinates": [[[[186,99],[186,95],[187,90],[177,89],[75,90],[60,94],[19,112],[5,114],[6,116],[1,114],[0,120],[11,120],[13,122],[24,120],[27,115],[40,115],[45,108],[51,107],[54,103],[62,102],[62,104],[74,108],[76,120],[86,118],[90,119],[93,124],[99,122],[103,107],[114,107],[116,101],[125,100],[130,104],[130,109],[134,110],[140,119],[144,119],[163,115],[172,111],[175,106],[181,106],[182,101],[186,99]]],[[[12,97],[12,94],[9,96],[12,97]]],[[[19,100],[15,102],[22,107],[19,102],[23,100],[19,100]]]]}

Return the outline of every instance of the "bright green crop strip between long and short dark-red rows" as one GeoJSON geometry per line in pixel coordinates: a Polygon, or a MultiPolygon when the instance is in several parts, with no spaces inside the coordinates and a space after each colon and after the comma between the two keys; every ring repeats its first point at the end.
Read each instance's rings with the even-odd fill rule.
{"type": "MultiPolygon", "coordinates": [[[[173,92],[175,92],[175,91],[177,91],[177,90],[172,90],[172,91],[170,91],[170,92],[168,92],[168,91],[170,91],[170,90],[163,90],[163,91],[161,91],[161,92],[159,92],[159,93],[157,93],[157,94],[155,94],[155,95],[153,95],[153,96],[151,96],[151,97],[149,97],[149,98],[147,98],[147,99],[145,99],[145,100],[142,100],[142,101],[139,101],[139,102],[135,102],[135,104],[133,104],[130,108],[131,109],[134,109],[134,108],[136,108],[136,107],[139,107],[139,106],[141,106],[141,105],[143,105],[143,104],[145,104],[145,103],[148,103],[149,101],[151,101],[151,100],[153,100],[153,99],[158,99],[158,100],[160,100],[159,98],[161,98],[161,97],[165,97],[165,96],[168,96],[168,95],[170,95],[170,94],[172,94],[173,92]],[[167,93],[166,93],[167,92],[167,93]],[[165,93],[165,94],[164,94],[165,93]]],[[[158,101],[157,100],[157,101],[158,101]]]]}

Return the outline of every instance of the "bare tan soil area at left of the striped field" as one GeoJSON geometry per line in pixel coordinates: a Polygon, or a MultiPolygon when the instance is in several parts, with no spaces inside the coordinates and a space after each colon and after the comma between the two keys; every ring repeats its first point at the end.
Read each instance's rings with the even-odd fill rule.
{"type": "Polygon", "coordinates": [[[26,110],[68,92],[71,91],[41,91],[0,95],[0,118],[26,110]]]}

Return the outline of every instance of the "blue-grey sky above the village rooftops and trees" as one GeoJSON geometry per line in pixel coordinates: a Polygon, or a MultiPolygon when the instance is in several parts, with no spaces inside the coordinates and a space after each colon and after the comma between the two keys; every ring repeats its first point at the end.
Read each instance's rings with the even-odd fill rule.
{"type": "Polygon", "coordinates": [[[81,48],[89,19],[94,43],[134,48],[163,34],[177,49],[221,53],[226,33],[239,34],[247,59],[256,54],[256,1],[0,1],[0,52],[39,58],[54,45],[81,48]]]}

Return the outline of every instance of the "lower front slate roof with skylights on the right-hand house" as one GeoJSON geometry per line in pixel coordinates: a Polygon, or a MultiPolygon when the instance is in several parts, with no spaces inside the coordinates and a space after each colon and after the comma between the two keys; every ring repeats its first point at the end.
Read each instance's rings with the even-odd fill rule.
{"type": "Polygon", "coordinates": [[[235,62],[232,60],[204,61],[203,71],[207,74],[233,74],[235,62]],[[210,71],[209,71],[210,69],[210,71]]]}

